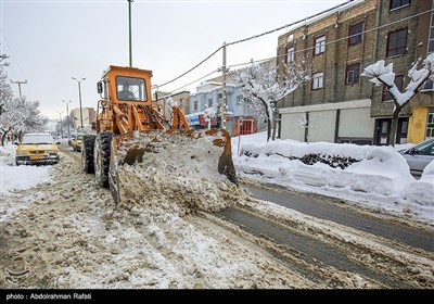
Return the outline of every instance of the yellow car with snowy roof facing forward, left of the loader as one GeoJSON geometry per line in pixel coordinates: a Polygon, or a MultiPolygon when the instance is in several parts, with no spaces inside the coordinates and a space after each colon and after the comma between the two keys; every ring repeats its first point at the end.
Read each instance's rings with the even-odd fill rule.
{"type": "Polygon", "coordinates": [[[59,163],[59,142],[50,134],[26,134],[15,151],[20,165],[51,165],[59,163]]]}

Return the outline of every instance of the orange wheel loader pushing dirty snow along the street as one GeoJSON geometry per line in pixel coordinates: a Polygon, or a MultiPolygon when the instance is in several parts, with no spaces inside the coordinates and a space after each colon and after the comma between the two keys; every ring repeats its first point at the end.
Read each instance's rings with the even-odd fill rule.
{"type": "Polygon", "coordinates": [[[191,129],[176,103],[170,117],[164,117],[152,101],[151,77],[151,71],[136,67],[111,65],[104,72],[98,83],[101,99],[93,135],[81,141],[84,170],[94,173],[97,183],[110,188],[116,203],[131,191],[124,189],[129,181],[123,180],[122,168],[139,175],[149,169],[143,178],[164,170],[167,179],[202,175],[238,183],[229,132],[191,129]]]}

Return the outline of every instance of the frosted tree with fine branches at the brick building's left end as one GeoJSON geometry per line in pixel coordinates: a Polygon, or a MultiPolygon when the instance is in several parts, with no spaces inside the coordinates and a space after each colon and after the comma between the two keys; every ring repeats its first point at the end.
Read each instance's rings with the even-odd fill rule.
{"type": "Polygon", "coordinates": [[[251,66],[235,72],[235,81],[240,86],[244,100],[253,103],[253,106],[260,109],[265,114],[267,141],[270,138],[276,139],[278,103],[309,79],[309,66],[306,60],[299,60],[286,65],[285,72],[279,74],[276,67],[252,63],[251,66]]]}

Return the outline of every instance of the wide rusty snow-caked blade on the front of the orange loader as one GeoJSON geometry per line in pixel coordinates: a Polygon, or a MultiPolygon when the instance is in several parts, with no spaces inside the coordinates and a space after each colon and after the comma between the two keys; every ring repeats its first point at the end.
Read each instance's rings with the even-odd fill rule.
{"type": "Polygon", "coordinates": [[[197,182],[226,180],[238,186],[230,135],[219,129],[150,130],[113,138],[108,183],[116,203],[128,200],[137,188],[149,188],[146,179],[163,173],[178,181],[194,183],[196,178],[197,182]],[[135,175],[146,178],[140,181],[135,175]],[[133,182],[127,180],[136,186],[131,188],[133,182]]]}

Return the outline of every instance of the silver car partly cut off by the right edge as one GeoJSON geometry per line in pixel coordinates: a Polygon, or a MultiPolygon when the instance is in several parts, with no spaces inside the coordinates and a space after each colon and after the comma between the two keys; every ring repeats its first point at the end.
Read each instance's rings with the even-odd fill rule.
{"type": "Polygon", "coordinates": [[[406,159],[410,173],[419,178],[422,176],[423,169],[434,161],[434,138],[427,139],[409,149],[399,150],[406,159]]]}

